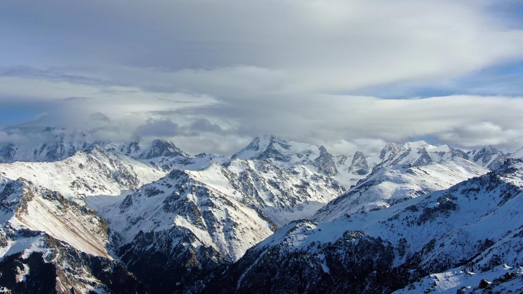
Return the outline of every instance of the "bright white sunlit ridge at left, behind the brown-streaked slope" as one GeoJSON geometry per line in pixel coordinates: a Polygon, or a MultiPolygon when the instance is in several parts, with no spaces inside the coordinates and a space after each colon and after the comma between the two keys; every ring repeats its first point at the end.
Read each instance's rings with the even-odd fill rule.
{"type": "Polygon", "coordinates": [[[165,175],[129,157],[94,146],[88,153],[76,153],[61,161],[0,163],[0,178],[25,178],[66,197],[120,195],[165,175]]]}

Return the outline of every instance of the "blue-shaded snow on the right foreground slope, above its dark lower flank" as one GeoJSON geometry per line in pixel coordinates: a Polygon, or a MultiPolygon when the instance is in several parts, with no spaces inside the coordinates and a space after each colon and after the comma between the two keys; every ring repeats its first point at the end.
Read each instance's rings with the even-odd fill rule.
{"type": "MultiPolygon", "coordinates": [[[[405,255],[396,255],[391,266],[403,264],[406,256],[416,253],[421,254],[418,268],[427,267],[433,261],[448,260],[450,264],[455,264],[473,258],[474,268],[479,270],[477,275],[487,271],[481,275],[490,277],[492,281],[492,275],[488,274],[488,266],[492,262],[514,266],[523,260],[523,252],[520,250],[523,248],[520,237],[523,236],[522,211],[523,162],[511,161],[496,174],[472,178],[449,189],[408,199],[377,211],[343,215],[321,222],[292,222],[257,244],[253,250],[261,253],[278,246],[280,250],[304,250],[309,256],[316,256],[321,249],[311,246],[313,242],[334,243],[346,231],[363,231],[393,246],[399,246],[400,239],[404,238],[407,244],[405,255]],[[491,243],[484,243],[485,240],[491,243]],[[431,249],[422,251],[430,242],[434,242],[431,249]],[[486,245],[478,253],[482,244],[486,245]]],[[[449,271],[455,272],[454,269],[449,271]]],[[[493,273],[497,275],[498,272],[493,273]]],[[[432,277],[422,284],[432,284],[432,277]]],[[[463,273],[444,273],[434,277],[442,281],[436,290],[448,290],[448,293],[456,293],[459,285],[477,286],[476,281],[479,283],[481,279],[467,280],[463,273]]],[[[521,289],[521,286],[517,287],[521,289]]],[[[416,286],[416,289],[412,293],[422,293],[427,288],[416,286]]]]}

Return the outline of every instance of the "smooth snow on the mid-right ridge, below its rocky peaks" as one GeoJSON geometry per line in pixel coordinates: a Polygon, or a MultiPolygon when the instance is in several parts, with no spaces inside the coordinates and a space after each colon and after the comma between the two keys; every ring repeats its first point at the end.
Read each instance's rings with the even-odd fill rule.
{"type": "MultiPolygon", "coordinates": [[[[425,166],[407,167],[404,163],[417,160],[417,152],[405,150],[388,160],[397,164],[384,164],[379,170],[373,171],[365,180],[336,198],[315,215],[315,220],[333,220],[345,214],[358,211],[368,211],[388,207],[405,199],[447,189],[469,178],[481,175],[487,170],[476,164],[456,157],[439,163],[430,162],[425,166]],[[407,156],[404,156],[404,155],[407,156]]],[[[386,163],[386,162],[385,162],[386,163]]]]}

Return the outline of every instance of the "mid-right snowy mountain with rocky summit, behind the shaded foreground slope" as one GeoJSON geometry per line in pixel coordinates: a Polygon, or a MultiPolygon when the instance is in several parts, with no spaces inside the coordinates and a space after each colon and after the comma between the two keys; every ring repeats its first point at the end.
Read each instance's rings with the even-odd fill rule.
{"type": "Polygon", "coordinates": [[[402,147],[385,146],[380,153],[386,155],[384,161],[367,178],[322,207],[313,219],[333,220],[357,211],[382,209],[488,172],[465,159],[463,151],[447,145],[436,147],[419,141],[402,147]],[[389,152],[391,147],[394,152],[389,152]]]}

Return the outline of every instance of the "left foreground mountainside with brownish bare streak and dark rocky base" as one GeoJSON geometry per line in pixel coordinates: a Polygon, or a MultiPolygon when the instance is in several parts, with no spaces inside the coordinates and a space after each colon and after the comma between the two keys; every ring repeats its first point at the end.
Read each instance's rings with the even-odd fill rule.
{"type": "Polygon", "coordinates": [[[25,179],[0,185],[0,209],[4,290],[147,292],[110,257],[107,224],[93,210],[25,179]]]}

